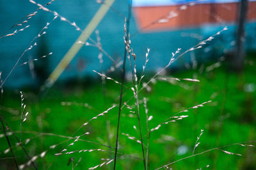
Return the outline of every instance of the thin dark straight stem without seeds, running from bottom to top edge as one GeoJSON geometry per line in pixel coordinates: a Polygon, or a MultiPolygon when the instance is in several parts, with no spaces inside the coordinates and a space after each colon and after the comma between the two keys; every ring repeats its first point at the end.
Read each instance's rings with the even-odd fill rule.
{"type": "MultiPolygon", "coordinates": [[[[127,36],[129,35],[129,26],[130,26],[130,18],[131,18],[131,8],[132,8],[132,0],[129,0],[129,7],[128,7],[128,17],[127,17],[127,34],[125,37],[125,41],[127,41],[127,36]]],[[[115,147],[115,158],[114,158],[114,170],[116,169],[116,154],[118,150],[118,134],[119,134],[119,125],[120,125],[120,115],[122,109],[122,96],[123,96],[123,87],[124,87],[124,80],[125,80],[125,63],[126,63],[126,55],[127,50],[124,47],[124,62],[123,62],[123,72],[122,72],[122,80],[121,80],[121,90],[120,90],[120,100],[119,100],[119,110],[118,110],[118,122],[117,122],[117,130],[116,130],[116,147],[115,147]]]]}

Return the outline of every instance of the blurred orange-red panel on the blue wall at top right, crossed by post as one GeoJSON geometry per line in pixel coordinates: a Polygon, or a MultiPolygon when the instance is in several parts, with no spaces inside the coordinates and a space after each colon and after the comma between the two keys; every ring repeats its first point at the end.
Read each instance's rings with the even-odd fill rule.
{"type": "MultiPolygon", "coordinates": [[[[134,17],[140,31],[196,27],[202,24],[224,24],[237,20],[239,3],[188,3],[170,6],[134,6],[134,17]]],[[[256,1],[248,2],[247,20],[256,19],[256,1]]]]}

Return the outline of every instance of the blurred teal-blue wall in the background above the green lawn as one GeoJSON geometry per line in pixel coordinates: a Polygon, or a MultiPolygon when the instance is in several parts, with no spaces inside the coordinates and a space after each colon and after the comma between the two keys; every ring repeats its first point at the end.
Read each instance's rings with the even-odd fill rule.
{"type": "MultiPolygon", "coordinates": [[[[37,3],[45,4],[47,1],[38,1],[37,3]]],[[[127,16],[127,1],[116,0],[113,4],[113,9],[109,10],[102,22],[98,25],[102,47],[109,55],[113,56],[115,60],[122,59],[124,53],[124,16],[127,16]],[[116,12],[118,11],[118,12],[116,12]]],[[[71,22],[76,22],[81,29],[84,29],[88,22],[95,15],[99,9],[100,4],[96,1],[68,1],[56,0],[51,5],[47,6],[52,11],[57,11],[63,17],[68,18],[71,22]]],[[[35,4],[29,1],[20,0],[0,0],[0,35],[4,34],[13,24],[19,21],[22,17],[28,15],[31,11],[37,8],[35,4]]],[[[2,79],[11,71],[19,56],[24,52],[28,45],[38,32],[49,22],[54,16],[52,13],[38,10],[35,17],[31,18],[25,25],[30,25],[28,29],[18,32],[15,36],[9,36],[0,39],[0,71],[2,71],[2,79]]],[[[24,26],[25,26],[24,25],[24,26]]],[[[22,27],[24,27],[22,26],[22,27]]],[[[200,38],[207,38],[212,34],[220,31],[225,25],[202,25],[202,27],[186,28],[179,30],[168,30],[159,32],[139,33],[132,37],[132,48],[136,53],[138,69],[142,68],[145,62],[145,53],[147,48],[150,48],[149,62],[147,68],[154,70],[165,66],[177,48],[184,50],[198,43],[199,39],[191,38],[189,34],[198,34],[200,38]]],[[[19,27],[22,28],[22,27],[19,27]]],[[[198,60],[204,60],[205,57],[210,57],[214,50],[219,52],[231,48],[230,42],[234,41],[234,34],[236,27],[233,24],[228,24],[228,31],[223,32],[219,39],[214,39],[212,43],[202,50],[196,52],[198,60]],[[213,50],[212,50],[213,49],[213,50]],[[205,53],[208,52],[208,53],[205,53]]],[[[13,28],[6,34],[12,33],[17,27],[13,28]]],[[[136,22],[134,18],[131,19],[131,34],[137,32],[136,22]]],[[[247,47],[255,49],[255,22],[247,24],[248,41],[247,47]]],[[[30,59],[41,57],[42,55],[52,52],[53,54],[47,58],[35,61],[36,67],[45,67],[48,73],[57,66],[62,57],[67,53],[68,49],[76,41],[80,32],[76,31],[74,27],[67,22],[63,22],[57,18],[46,30],[47,34],[36,40],[37,46],[26,52],[19,64],[30,59]],[[40,53],[40,54],[38,54],[40,53]],[[47,60],[47,62],[43,62],[47,60]],[[45,64],[45,65],[44,65],[45,64]]],[[[95,34],[91,36],[96,40],[95,34]]],[[[90,41],[89,41],[90,42],[90,41]]],[[[61,74],[60,79],[82,77],[84,75],[93,74],[92,69],[100,71],[100,64],[98,60],[99,50],[93,46],[84,46],[76,57],[72,60],[67,69],[61,74]]],[[[111,60],[103,56],[103,69],[107,70],[113,64],[111,60]]],[[[182,59],[173,63],[172,67],[184,66],[184,62],[189,62],[189,53],[182,59]]],[[[6,87],[20,87],[22,85],[35,84],[33,73],[28,65],[16,67],[10,78],[5,83],[6,87]]]]}

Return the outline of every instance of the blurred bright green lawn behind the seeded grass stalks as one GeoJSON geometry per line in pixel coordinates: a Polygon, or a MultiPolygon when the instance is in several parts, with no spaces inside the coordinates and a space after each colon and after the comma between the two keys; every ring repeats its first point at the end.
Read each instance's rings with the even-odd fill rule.
{"type": "MultiPolygon", "coordinates": [[[[148,122],[149,129],[156,127],[166,118],[172,117],[174,113],[206,101],[212,101],[205,104],[204,107],[179,113],[179,115],[188,115],[189,117],[164,124],[150,134],[150,169],[156,169],[190,156],[201,129],[204,129],[204,133],[198,140],[200,145],[196,148],[195,154],[218,146],[255,140],[255,72],[255,64],[246,64],[244,73],[241,75],[227,71],[223,65],[203,73],[200,73],[199,69],[183,71],[173,73],[172,76],[196,78],[200,82],[181,80],[170,83],[157,80],[156,83],[150,83],[150,91],[142,90],[139,100],[141,101],[140,118],[143,136],[147,134],[143,97],[148,98],[148,115],[153,116],[152,120],[148,122]]],[[[125,85],[129,87],[132,83],[127,82],[125,85]]],[[[125,89],[124,101],[132,97],[132,92],[129,89],[125,89]]],[[[29,89],[24,89],[22,92],[25,97],[24,104],[26,104],[24,113],[29,112],[28,120],[22,124],[22,142],[31,157],[38,155],[35,164],[39,169],[48,167],[50,169],[72,169],[72,166],[74,169],[88,169],[106,161],[102,159],[113,158],[120,85],[111,80],[106,80],[105,90],[102,90],[99,81],[92,81],[90,85],[79,82],[71,83],[71,85],[56,85],[45,94],[45,97],[38,97],[40,95],[29,89]],[[81,125],[107,110],[114,103],[117,105],[116,108],[110,110],[103,117],[92,120],[74,134],[81,125]],[[60,153],[64,146],[74,141],[74,139],[67,141],[68,137],[73,134],[74,137],[79,136],[85,132],[90,132],[90,134],[79,138],[81,140],[69,146],[67,152],[98,148],[104,152],[75,152],[54,156],[55,153],[60,153]],[[45,156],[41,158],[40,154],[45,151],[45,156]],[[77,164],[79,158],[81,161],[77,164]]],[[[134,108],[134,99],[128,104],[134,108]]],[[[122,110],[116,169],[143,169],[140,143],[121,134],[123,132],[139,138],[138,118],[129,111],[126,107],[122,110]],[[134,129],[134,126],[137,130],[134,129]]],[[[1,112],[10,128],[20,138],[19,90],[4,90],[1,112]]],[[[15,146],[17,141],[13,135],[10,135],[9,138],[17,162],[19,165],[26,164],[28,158],[20,146],[15,146]]],[[[1,134],[0,141],[0,169],[14,169],[15,165],[10,151],[6,151],[8,145],[3,134],[1,134]]],[[[144,141],[146,143],[147,138],[144,138],[144,141]]],[[[234,145],[221,148],[221,150],[212,150],[196,157],[184,159],[169,167],[172,169],[255,169],[255,147],[234,145]],[[243,156],[228,155],[221,150],[239,153],[243,156]]],[[[102,169],[113,167],[112,163],[102,166],[102,169]]],[[[26,165],[25,168],[33,169],[31,164],[26,165]]]]}

